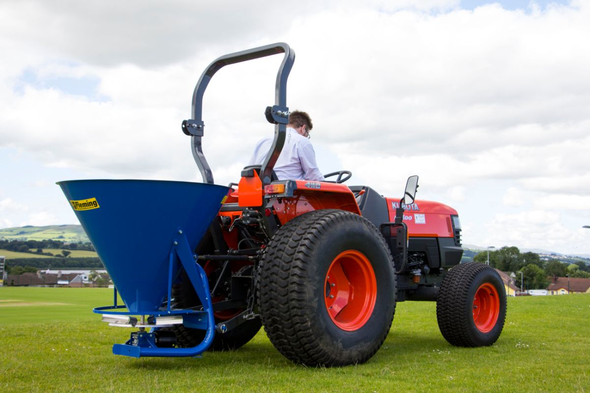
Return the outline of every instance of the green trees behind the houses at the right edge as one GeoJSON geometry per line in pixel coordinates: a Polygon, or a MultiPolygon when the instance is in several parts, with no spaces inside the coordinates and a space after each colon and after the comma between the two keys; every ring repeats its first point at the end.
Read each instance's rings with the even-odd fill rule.
{"type": "MultiPolygon", "coordinates": [[[[487,262],[487,251],[478,253],[473,257],[474,262],[487,262]]],[[[522,289],[545,289],[549,285],[550,278],[570,276],[573,278],[590,278],[590,266],[582,260],[568,264],[559,260],[543,260],[534,252],[521,253],[517,247],[502,247],[499,250],[490,251],[490,266],[502,272],[516,273],[516,282],[519,283],[522,272],[522,289]]]]}

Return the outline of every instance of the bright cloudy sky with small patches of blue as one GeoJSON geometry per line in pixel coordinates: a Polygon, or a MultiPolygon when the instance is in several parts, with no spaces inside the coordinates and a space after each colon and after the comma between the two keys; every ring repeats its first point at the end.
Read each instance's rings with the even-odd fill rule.
{"type": "MultiPolygon", "coordinates": [[[[283,41],[323,173],[387,196],[418,174],[464,243],[590,254],[589,20],[588,0],[3,0],[0,227],[77,223],[60,180],[202,181],[180,127],[199,75],[283,41]]],[[[216,183],[273,133],[281,60],[209,84],[216,183]]]]}

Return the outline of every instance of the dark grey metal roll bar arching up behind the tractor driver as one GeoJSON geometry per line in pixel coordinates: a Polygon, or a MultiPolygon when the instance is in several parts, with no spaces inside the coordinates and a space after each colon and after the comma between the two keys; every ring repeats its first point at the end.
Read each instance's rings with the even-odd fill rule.
{"type": "Polygon", "coordinates": [[[205,123],[202,120],[203,94],[205,93],[205,89],[207,89],[209,81],[211,81],[215,72],[221,70],[221,68],[226,65],[280,53],[284,53],[285,55],[278,68],[277,81],[274,87],[274,105],[272,107],[267,107],[265,111],[267,120],[275,125],[274,140],[260,170],[263,186],[270,184],[270,176],[271,173],[273,173],[274,164],[277,162],[278,155],[281,153],[281,150],[283,150],[286,128],[287,124],[289,124],[287,78],[289,78],[289,72],[291,72],[293,62],[295,61],[295,52],[284,42],[277,42],[276,44],[265,45],[264,47],[247,49],[245,51],[221,56],[205,68],[201,78],[199,78],[199,81],[196,83],[195,91],[192,95],[192,119],[182,122],[182,131],[186,135],[191,136],[192,155],[201,171],[204,183],[214,183],[213,174],[211,168],[209,168],[207,159],[205,159],[201,144],[201,137],[203,136],[205,128],[205,123]]]}

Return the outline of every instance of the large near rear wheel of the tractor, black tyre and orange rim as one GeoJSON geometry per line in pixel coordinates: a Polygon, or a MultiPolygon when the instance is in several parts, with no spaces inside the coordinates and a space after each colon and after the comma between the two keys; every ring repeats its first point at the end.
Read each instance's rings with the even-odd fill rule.
{"type": "Polygon", "coordinates": [[[266,247],[258,308],[275,348],[293,362],[366,362],[385,341],[396,282],[388,246],[358,214],[317,210],[282,226],[266,247]]]}

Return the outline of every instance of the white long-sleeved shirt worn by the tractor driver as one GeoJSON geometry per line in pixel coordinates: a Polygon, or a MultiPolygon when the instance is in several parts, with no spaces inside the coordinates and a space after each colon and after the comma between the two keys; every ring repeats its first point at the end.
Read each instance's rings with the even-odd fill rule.
{"type": "MultiPolygon", "coordinates": [[[[261,165],[273,145],[273,140],[274,138],[264,138],[258,141],[248,165],[261,165]]],[[[274,172],[278,180],[324,180],[317,169],[316,152],[312,143],[291,127],[287,128],[285,144],[274,164],[274,172]]]]}

